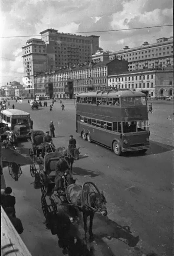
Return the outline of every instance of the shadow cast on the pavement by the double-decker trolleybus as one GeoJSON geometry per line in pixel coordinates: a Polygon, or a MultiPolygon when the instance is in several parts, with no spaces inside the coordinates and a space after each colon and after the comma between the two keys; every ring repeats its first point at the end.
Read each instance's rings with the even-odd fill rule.
{"type": "Polygon", "coordinates": [[[150,141],[150,148],[145,152],[141,153],[138,151],[133,151],[133,152],[126,152],[124,153],[125,157],[136,157],[136,156],[146,156],[146,155],[154,155],[154,154],[161,154],[165,153],[168,151],[173,150],[174,147],[160,143],[160,142],[155,142],[155,141],[150,141]]]}

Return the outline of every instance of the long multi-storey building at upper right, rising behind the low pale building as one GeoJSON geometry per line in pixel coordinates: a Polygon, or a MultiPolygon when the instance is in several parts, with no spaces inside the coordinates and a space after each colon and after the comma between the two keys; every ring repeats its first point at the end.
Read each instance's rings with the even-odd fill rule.
{"type": "Polygon", "coordinates": [[[173,37],[159,38],[156,43],[149,44],[144,42],[141,46],[129,48],[125,46],[123,50],[109,53],[109,59],[115,58],[128,61],[128,70],[135,70],[144,67],[150,68],[152,64],[158,60],[162,67],[166,67],[167,63],[173,66],[173,37]]]}

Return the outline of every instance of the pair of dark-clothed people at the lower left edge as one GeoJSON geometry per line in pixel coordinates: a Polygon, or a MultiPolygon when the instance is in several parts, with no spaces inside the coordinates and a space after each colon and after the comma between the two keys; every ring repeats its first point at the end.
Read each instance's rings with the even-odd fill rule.
{"type": "Polygon", "coordinates": [[[11,193],[11,187],[6,187],[5,190],[1,189],[1,206],[6,212],[7,216],[9,217],[11,223],[13,224],[18,234],[22,234],[22,232],[24,231],[22,222],[19,218],[16,218],[16,199],[15,196],[11,195],[11,193]]]}

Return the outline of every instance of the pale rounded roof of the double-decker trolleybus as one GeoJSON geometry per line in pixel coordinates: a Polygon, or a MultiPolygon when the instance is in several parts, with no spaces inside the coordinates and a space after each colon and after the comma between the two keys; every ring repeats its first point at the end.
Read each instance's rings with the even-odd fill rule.
{"type": "Polygon", "coordinates": [[[86,91],[81,92],[77,97],[146,97],[140,91],[133,90],[105,90],[105,91],[86,91]]]}

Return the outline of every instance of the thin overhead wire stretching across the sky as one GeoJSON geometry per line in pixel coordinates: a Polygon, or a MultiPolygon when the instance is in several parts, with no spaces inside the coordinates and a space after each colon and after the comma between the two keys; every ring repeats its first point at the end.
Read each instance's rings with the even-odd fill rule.
{"type": "MultiPolygon", "coordinates": [[[[71,33],[65,33],[65,34],[102,33],[102,32],[126,31],[126,30],[146,29],[146,28],[162,28],[162,27],[171,27],[171,26],[173,26],[173,25],[160,25],[160,26],[150,26],[150,27],[141,27],[141,28],[126,28],[126,29],[114,29],[114,30],[82,31],[82,32],[71,32],[71,33]]],[[[21,38],[21,37],[40,37],[40,36],[41,35],[28,35],[28,36],[12,36],[12,37],[0,37],[0,38],[21,38]]]]}

